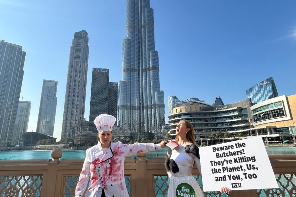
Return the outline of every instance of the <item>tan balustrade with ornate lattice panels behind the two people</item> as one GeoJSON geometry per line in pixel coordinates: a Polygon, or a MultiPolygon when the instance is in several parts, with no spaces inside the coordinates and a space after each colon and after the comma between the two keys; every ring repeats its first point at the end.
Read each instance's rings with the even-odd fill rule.
{"type": "MultiPolygon", "coordinates": [[[[138,154],[139,160],[126,158],[125,180],[131,197],[167,196],[169,179],[164,168],[165,158],[138,154]]],[[[62,151],[52,152],[54,160],[0,160],[0,195],[3,197],[73,197],[83,159],[63,159],[62,151]]],[[[233,191],[230,194],[204,192],[206,197],[295,197],[296,155],[269,155],[278,182],[278,189],[233,191]]],[[[192,174],[202,189],[201,176],[192,174]]]]}

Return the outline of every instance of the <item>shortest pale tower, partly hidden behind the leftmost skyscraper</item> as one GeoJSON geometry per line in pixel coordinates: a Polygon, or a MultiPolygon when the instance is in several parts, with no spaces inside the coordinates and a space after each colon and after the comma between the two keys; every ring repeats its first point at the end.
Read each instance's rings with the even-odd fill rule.
{"type": "Polygon", "coordinates": [[[30,101],[18,102],[18,112],[15,119],[11,145],[21,145],[21,136],[27,132],[31,110],[30,101]]]}

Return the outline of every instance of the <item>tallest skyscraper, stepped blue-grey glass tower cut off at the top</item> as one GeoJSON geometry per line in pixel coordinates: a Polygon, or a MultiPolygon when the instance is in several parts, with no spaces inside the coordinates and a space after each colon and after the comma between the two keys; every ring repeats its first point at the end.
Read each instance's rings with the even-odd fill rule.
{"type": "Polygon", "coordinates": [[[157,131],[165,123],[165,114],[150,1],[127,0],[126,20],[117,125],[135,132],[157,131]]]}

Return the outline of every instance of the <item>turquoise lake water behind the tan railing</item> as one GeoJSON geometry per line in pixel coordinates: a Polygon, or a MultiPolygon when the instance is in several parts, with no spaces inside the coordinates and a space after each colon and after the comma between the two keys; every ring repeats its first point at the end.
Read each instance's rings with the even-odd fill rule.
{"type": "MultiPolygon", "coordinates": [[[[296,154],[296,148],[291,147],[266,147],[267,154],[296,154]]],[[[49,151],[0,151],[0,160],[21,159],[51,159],[49,151]]],[[[162,148],[147,153],[146,159],[150,157],[166,157],[167,148],[162,148]]],[[[132,156],[136,157],[137,156],[132,156]]],[[[63,150],[62,159],[84,159],[85,150],[63,150]]]]}

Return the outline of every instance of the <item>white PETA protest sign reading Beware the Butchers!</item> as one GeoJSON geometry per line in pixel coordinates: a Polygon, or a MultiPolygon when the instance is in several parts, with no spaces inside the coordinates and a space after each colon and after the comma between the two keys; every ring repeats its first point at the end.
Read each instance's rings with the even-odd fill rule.
{"type": "Polygon", "coordinates": [[[278,188],[261,137],[199,149],[203,190],[278,188]]]}

